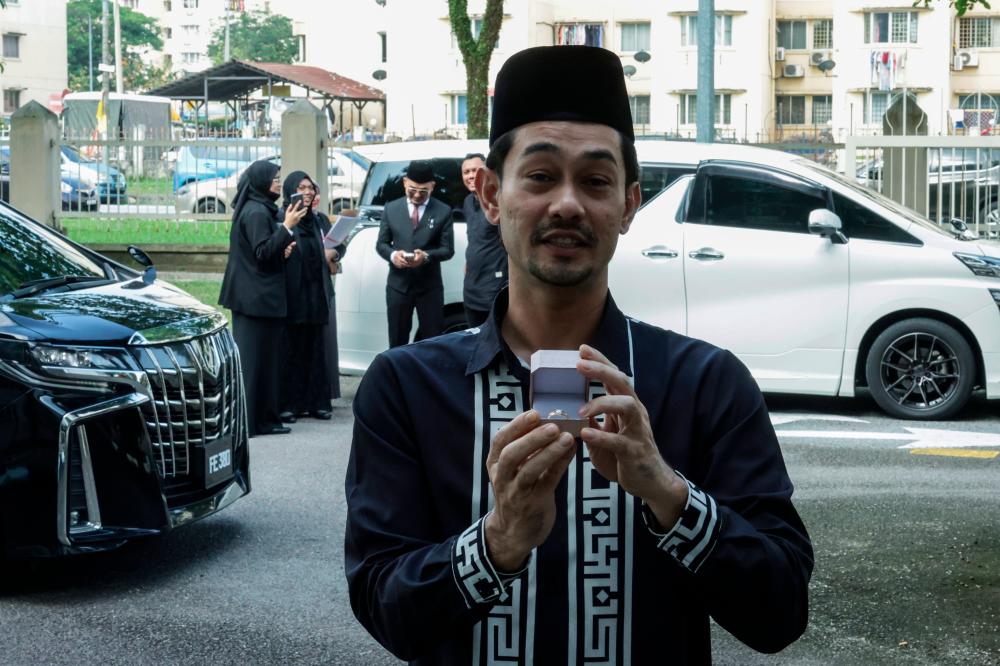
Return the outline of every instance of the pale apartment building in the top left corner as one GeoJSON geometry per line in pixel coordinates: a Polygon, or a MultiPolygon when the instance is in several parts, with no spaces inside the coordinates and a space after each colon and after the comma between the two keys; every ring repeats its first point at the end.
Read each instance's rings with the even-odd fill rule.
{"type": "Polygon", "coordinates": [[[65,0],[7,0],[0,9],[0,115],[34,100],[58,111],[66,89],[65,0]]]}

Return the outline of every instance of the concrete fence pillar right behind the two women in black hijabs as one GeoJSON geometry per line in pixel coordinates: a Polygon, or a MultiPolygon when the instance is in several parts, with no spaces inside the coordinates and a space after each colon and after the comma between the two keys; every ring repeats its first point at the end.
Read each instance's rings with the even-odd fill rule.
{"type": "Polygon", "coordinates": [[[281,114],[281,174],[305,171],[319,185],[323,210],[329,210],[330,178],[326,119],[310,102],[300,99],[281,114]]]}

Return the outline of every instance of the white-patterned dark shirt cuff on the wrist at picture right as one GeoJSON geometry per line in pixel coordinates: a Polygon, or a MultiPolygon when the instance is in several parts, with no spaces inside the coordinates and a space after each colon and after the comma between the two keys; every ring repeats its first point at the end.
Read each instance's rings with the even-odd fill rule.
{"type": "Polygon", "coordinates": [[[685,569],[695,573],[712,554],[719,540],[721,525],[715,499],[684,478],[688,484],[688,501],[674,526],[664,532],[653,511],[642,503],[642,519],[646,528],[658,539],[656,547],[670,555],[685,569]]]}

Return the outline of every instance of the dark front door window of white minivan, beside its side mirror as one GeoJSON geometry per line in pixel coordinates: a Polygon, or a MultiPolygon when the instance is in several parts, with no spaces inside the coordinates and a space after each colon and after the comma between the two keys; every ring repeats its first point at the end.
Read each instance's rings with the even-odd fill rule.
{"type": "Polygon", "coordinates": [[[718,226],[809,233],[809,213],[826,208],[819,196],[775,182],[714,175],[708,181],[706,222],[718,226]]]}

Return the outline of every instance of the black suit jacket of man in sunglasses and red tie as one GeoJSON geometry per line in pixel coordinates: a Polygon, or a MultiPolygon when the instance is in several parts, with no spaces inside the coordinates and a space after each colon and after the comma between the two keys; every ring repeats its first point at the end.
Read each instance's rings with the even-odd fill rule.
{"type": "Polygon", "coordinates": [[[455,254],[451,224],[451,208],[437,199],[427,201],[416,229],[410,221],[406,197],[387,203],[382,211],[375,250],[389,262],[388,286],[403,293],[419,293],[441,287],[441,262],[455,254]],[[418,268],[396,268],[389,260],[396,250],[405,252],[418,248],[430,257],[418,268]]]}

